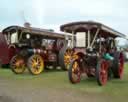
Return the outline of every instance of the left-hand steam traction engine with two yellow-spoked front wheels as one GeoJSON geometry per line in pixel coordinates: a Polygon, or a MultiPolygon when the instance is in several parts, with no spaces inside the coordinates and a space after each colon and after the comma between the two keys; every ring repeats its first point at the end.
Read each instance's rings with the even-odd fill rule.
{"type": "Polygon", "coordinates": [[[70,38],[69,35],[51,30],[20,26],[7,27],[1,35],[6,45],[4,51],[7,51],[5,64],[10,63],[12,71],[16,74],[23,73],[25,68],[28,68],[35,75],[40,74],[49,65],[54,68],[60,65],[68,43],[65,38],[70,38]]]}

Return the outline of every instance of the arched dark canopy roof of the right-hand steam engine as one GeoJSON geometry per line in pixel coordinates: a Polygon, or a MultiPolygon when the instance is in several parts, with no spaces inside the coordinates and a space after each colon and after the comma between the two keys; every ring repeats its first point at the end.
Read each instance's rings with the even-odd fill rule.
{"type": "Polygon", "coordinates": [[[68,33],[87,32],[90,30],[93,34],[97,29],[100,29],[99,35],[102,37],[122,37],[126,38],[126,35],[98,22],[94,21],[80,21],[64,24],[60,26],[60,30],[68,33]]]}

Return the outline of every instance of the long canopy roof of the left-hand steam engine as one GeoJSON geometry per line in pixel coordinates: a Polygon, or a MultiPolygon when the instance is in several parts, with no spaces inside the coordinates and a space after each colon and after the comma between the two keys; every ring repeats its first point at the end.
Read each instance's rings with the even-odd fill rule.
{"type": "MultiPolygon", "coordinates": [[[[30,33],[30,34],[37,34],[37,35],[41,35],[41,36],[47,36],[49,38],[61,38],[64,39],[65,35],[67,34],[63,34],[63,33],[56,33],[54,31],[50,31],[47,29],[40,29],[40,28],[34,28],[34,27],[21,27],[21,26],[9,26],[5,29],[3,29],[2,33],[7,33],[10,32],[11,30],[20,30],[21,32],[25,32],[25,33],[30,33]]],[[[67,35],[67,36],[71,36],[71,35],[67,35]]]]}

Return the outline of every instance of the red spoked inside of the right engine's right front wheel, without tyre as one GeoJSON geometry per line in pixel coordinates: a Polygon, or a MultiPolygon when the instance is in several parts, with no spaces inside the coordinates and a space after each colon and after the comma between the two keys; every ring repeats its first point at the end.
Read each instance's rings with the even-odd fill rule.
{"type": "Polygon", "coordinates": [[[107,63],[105,61],[102,61],[100,64],[99,79],[101,85],[105,85],[107,83],[107,79],[108,79],[107,63]]]}

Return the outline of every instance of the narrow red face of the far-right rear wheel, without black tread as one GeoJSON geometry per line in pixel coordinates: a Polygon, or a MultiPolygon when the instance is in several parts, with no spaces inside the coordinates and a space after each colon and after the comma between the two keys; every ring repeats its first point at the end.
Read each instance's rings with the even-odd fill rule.
{"type": "Polygon", "coordinates": [[[123,69],[124,69],[124,57],[123,57],[123,54],[120,53],[120,56],[119,56],[119,77],[122,78],[123,76],[123,69]]]}

